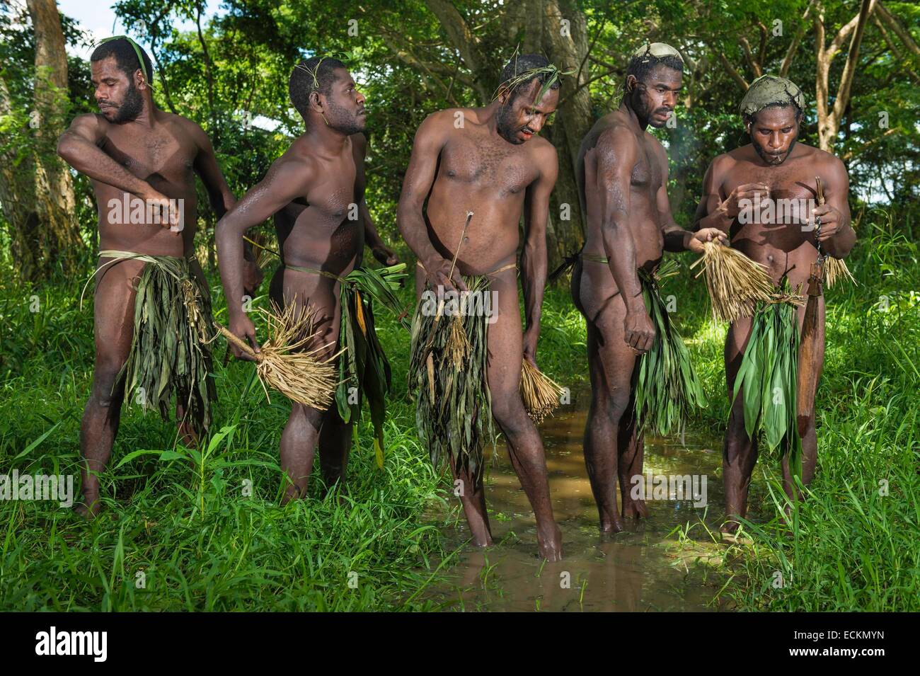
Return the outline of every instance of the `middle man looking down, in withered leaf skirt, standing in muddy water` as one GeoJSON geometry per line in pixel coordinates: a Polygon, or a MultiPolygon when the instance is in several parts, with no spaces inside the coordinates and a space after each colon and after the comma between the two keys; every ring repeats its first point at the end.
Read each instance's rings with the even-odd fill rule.
{"type": "Polygon", "coordinates": [[[521,55],[505,66],[488,106],[428,116],[415,136],[397,213],[399,230],[419,258],[420,300],[444,287],[486,299],[463,316],[445,315],[441,303],[433,313],[421,302],[416,310],[409,384],[416,389],[421,440],[435,464],[446,456],[473,541],[488,546],[482,455],[494,418],[534,508],[540,553],[549,560],[561,557],[561,533],[543,442],[519,388],[523,359],[535,365],[546,218],[558,172],[555,148],[536,134],[556,109],[558,77],[544,57],[521,55]],[[523,334],[515,261],[522,213],[523,334]]]}

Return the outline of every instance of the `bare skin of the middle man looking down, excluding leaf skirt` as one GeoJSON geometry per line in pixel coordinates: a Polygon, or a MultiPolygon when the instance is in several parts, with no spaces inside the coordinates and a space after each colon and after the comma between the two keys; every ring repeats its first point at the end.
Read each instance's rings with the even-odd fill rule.
{"type": "MultiPolygon", "coordinates": [[[[521,362],[535,364],[540,309],[546,283],[546,219],[556,183],[558,158],[552,144],[536,136],[556,109],[558,90],[535,101],[539,83],[523,85],[516,97],[503,94],[485,108],[446,109],[422,122],[399,199],[399,231],[426,272],[416,269],[416,292],[430,285],[466,289],[461,275],[489,273],[515,261],[523,212],[521,255],[526,328],[522,333],[517,277],[507,269],[490,275],[498,293],[497,320],[489,326],[489,390],[492,415],[508,440],[512,466],[534,508],[540,554],[562,556],[562,536],[549,499],[543,442],[520,395],[521,362]],[[457,128],[455,120],[463,120],[457,128]],[[427,210],[423,211],[428,199],[427,210]],[[457,254],[466,223],[474,212],[457,254]],[[451,276],[451,261],[457,254],[451,276]]],[[[458,470],[466,521],[477,546],[492,537],[482,478],[458,470]]]]}

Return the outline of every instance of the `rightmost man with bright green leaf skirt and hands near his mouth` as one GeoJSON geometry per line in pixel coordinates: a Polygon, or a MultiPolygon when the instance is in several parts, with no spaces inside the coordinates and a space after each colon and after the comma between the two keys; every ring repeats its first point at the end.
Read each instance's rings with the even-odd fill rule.
{"type": "Polygon", "coordinates": [[[814,392],[799,386],[797,393],[797,377],[806,369],[814,374],[816,386],[820,376],[824,299],[816,299],[811,360],[800,363],[799,331],[806,311],[795,291],[808,285],[819,253],[844,258],[856,234],[850,226],[849,179],[843,162],[798,143],[804,108],[801,89],[785,77],[764,75],[755,80],[740,106],[751,143],[719,155],[709,165],[696,212],[697,227],[717,227],[729,234],[731,246],[765,266],[777,286],[776,302],[762,304],[753,317],[732,323],[725,343],[732,407],[722,460],[727,517],[723,533],[735,533],[737,519],[745,516],[758,428],[764,430],[769,449],[782,455],[783,483],[790,498],[797,492],[793,475],[800,471],[807,485],[815,470],[814,392]],[[811,415],[797,418],[797,409],[808,409],[811,415]]]}

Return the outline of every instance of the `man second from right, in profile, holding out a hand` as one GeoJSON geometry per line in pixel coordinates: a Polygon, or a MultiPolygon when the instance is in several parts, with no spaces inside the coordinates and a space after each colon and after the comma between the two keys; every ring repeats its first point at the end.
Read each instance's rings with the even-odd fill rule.
{"type": "Polygon", "coordinates": [[[622,516],[648,516],[633,490],[634,477],[642,475],[643,432],[667,434],[681,427],[691,407],[705,405],[656,273],[664,250],[701,252],[704,241],[725,235],[713,228],[694,235],[674,223],[668,157],[646,131],[673,115],[683,70],[673,47],[640,48],[628,63],[619,109],[594,124],[579,153],[587,227],[571,291],[588,328],[592,402],[584,459],[604,533],[624,527],[617,479],[622,516]]]}

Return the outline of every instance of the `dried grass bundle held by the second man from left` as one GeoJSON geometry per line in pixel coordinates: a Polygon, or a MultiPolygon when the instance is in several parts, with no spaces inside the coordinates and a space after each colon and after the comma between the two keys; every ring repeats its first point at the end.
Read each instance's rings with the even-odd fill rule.
{"type": "Polygon", "coordinates": [[[272,304],[271,311],[260,308],[259,312],[266,317],[269,337],[259,352],[217,322],[214,327],[256,361],[256,372],[267,398],[266,384],[270,384],[298,404],[325,411],[339,384],[336,360],[341,352],[323,360],[318,355],[334,343],[303,349],[318,333],[313,328],[313,307],[298,308],[292,303],[282,311],[272,304]]]}

